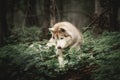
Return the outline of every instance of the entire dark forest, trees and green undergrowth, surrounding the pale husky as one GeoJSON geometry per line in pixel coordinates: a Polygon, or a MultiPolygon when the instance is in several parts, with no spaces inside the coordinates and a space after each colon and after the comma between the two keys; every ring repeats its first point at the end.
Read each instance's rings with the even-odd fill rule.
{"type": "Polygon", "coordinates": [[[0,0],[0,80],[120,80],[119,32],[119,0],[0,0]],[[39,47],[60,21],[85,40],[75,53],[82,57],[65,54],[62,70],[50,57],[54,49],[39,47]]]}

